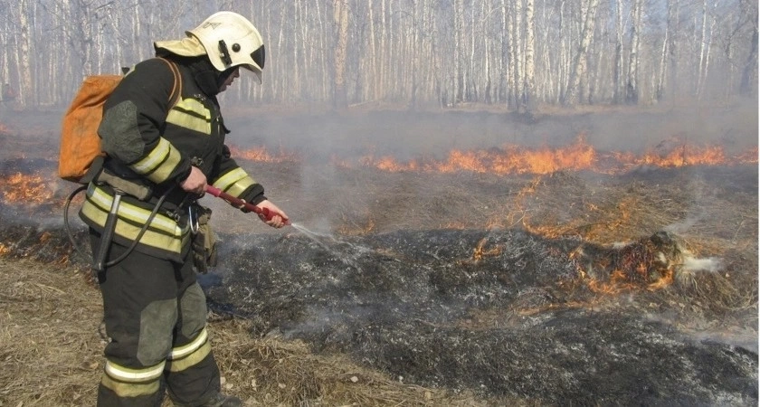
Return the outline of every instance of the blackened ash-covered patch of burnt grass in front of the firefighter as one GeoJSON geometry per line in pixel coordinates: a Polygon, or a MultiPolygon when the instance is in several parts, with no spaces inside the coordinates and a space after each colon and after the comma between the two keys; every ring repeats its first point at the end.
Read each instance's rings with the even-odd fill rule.
{"type": "Polygon", "coordinates": [[[646,289],[678,271],[670,233],[621,248],[512,230],[223,240],[223,267],[202,279],[217,311],[404,383],[553,405],[757,403],[756,347],[689,336],[663,308],[672,293],[646,289]],[[656,261],[627,294],[590,289],[636,250],[656,261]]]}

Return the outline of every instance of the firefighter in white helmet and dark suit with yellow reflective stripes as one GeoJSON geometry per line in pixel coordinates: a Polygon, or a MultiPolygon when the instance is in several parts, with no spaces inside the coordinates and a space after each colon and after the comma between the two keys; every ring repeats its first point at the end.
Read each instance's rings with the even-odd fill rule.
{"type": "Polygon", "coordinates": [[[242,405],[221,393],[208,339],[195,277],[207,256],[191,250],[208,211],[196,200],[213,185],[268,209],[274,216],[260,217],[271,227],[288,221],[230,156],[217,101],[241,69],[261,83],[260,33],[242,15],[219,12],[185,34],[154,43],[161,58],[135,65],[103,107],[98,133],[107,158],[80,211],[102,266],[110,338],[100,406],[158,406],[165,392],[179,406],[242,405]]]}

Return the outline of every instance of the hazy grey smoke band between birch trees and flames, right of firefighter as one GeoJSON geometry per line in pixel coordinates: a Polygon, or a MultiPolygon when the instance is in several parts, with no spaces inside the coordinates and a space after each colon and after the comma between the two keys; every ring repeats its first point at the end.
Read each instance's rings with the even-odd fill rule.
{"type": "Polygon", "coordinates": [[[284,148],[305,159],[393,156],[404,161],[445,157],[452,149],[505,145],[564,147],[583,134],[601,151],[640,153],[684,144],[720,145],[728,154],[757,146],[757,105],[652,107],[537,114],[526,121],[486,110],[348,110],[238,115],[228,118],[232,144],[284,148]]]}

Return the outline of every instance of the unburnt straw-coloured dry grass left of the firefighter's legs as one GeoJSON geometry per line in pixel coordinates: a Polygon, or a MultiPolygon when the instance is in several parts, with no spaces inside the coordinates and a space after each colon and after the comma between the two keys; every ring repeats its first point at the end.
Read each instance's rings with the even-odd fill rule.
{"type": "Polygon", "coordinates": [[[81,274],[0,259],[0,405],[92,405],[105,345],[81,274]]]}

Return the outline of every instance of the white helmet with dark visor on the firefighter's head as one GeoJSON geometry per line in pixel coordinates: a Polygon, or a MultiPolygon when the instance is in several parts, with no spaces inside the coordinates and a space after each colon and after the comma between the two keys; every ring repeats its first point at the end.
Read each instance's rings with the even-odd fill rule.
{"type": "Polygon", "coordinates": [[[206,54],[217,71],[242,66],[261,83],[264,42],[256,27],[242,15],[228,11],[214,13],[185,33],[188,38],[181,41],[157,42],[157,50],[185,56],[206,54]]]}

